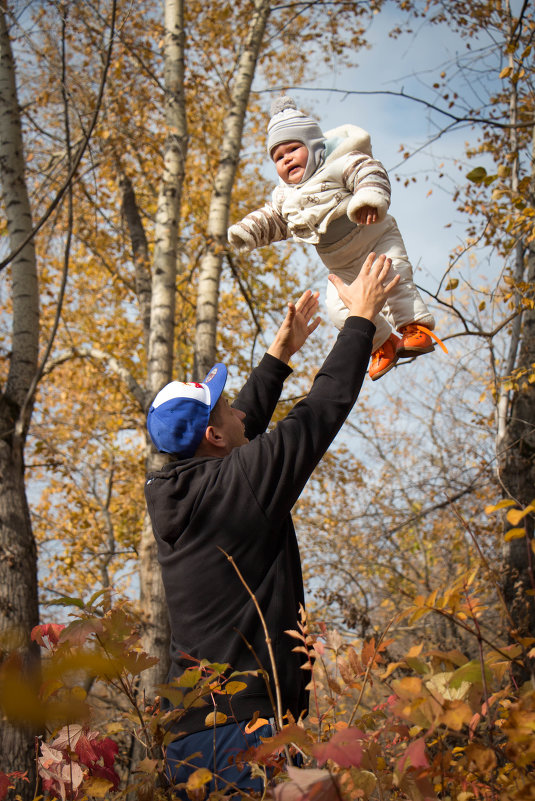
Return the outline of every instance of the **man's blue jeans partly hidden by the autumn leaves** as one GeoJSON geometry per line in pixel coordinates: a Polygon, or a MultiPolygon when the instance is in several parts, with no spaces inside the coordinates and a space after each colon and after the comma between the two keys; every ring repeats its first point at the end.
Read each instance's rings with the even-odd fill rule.
{"type": "MultiPolygon", "coordinates": [[[[274,729],[271,724],[261,726],[252,734],[245,734],[244,729],[247,721],[240,723],[229,723],[226,726],[218,726],[215,730],[215,749],[214,749],[214,730],[195,732],[175,740],[167,747],[167,773],[172,784],[187,782],[188,777],[198,768],[208,768],[216,774],[215,781],[212,779],[206,785],[206,790],[210,793],[215,789],[223,790],[227,784],[232,784],[229,788],[261,793],[264,789],[262,779],[251,777],[251,772],[247,764],[239,767],[234,763],[229,765],[229,757],[235,756],[240,751],[247,748],[261,745],[260,737],[271,737],[274,729]],[[194,759],[189,759],[192,754],[200,751],[194,759]],[[187,765],[180,764],[187,761],[187,765]],[[216,786],[217,785],[217,786],[216,786]]],[[[188,801],[185,790],[176,792],[178,798],[188,801]]]]}

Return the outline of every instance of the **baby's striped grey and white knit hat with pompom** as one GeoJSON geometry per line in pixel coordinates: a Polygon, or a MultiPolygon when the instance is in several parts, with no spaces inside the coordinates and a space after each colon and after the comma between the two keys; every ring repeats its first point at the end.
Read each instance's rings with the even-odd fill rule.
{"type": "Polygon", "coordinates": [[[325,137],[316,120],[299,111],[294,100],[287,95],[277,97],[271,104],[268,154],[271,156],[273,148],[283,142],[302,142],[308,150],[307,166],[301,178],[303,183],[317,170],[323,160],[325,137]]]}

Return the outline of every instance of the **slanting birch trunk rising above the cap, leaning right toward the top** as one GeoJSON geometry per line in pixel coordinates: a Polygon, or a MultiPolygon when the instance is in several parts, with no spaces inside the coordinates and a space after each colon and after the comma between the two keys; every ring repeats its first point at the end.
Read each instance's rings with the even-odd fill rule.
{"type": "Polygon", "coordinates": [[[271,0],[257,0],[223,124],[221,158],[208,215],[208,245],[199,267],[193,368],[196,380],[204,378],[215,361],[219,282],[227,243],[230,197],[240,156],[245,112],[270,11],[271,0]]]}

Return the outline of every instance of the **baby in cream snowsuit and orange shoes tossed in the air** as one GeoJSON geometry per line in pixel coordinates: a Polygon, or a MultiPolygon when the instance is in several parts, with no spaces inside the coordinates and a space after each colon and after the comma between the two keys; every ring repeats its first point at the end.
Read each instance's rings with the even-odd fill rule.
{"type": "MultiPolygon", "coordinates": [[[[401,281],[374,323],[376,333],[369,373],[372,380],[400,357],[434,350],[435,321],[412,280],[412,267],[390,205],[390,181],[372,156],[369,134],[356,125],[322,133],[289,97],[271,106],[267,149],[279,175],[272,200],[228,230],[238,250],[293,237],[309,242],[328,268],[346,284],[372,251],[392,259],[392,276],[401,281]],[[399,334],[394,333],[399,332],[399,334]]],[[[327,285],[329,317],[341,328],[349,312],[335,288],[327,285]]]]}

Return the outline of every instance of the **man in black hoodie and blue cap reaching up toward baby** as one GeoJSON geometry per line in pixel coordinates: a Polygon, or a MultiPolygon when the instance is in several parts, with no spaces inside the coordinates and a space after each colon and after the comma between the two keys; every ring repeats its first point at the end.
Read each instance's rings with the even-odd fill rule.
{"type": "MultiPolygon", "coordinates": [[[[255,605],[228,554],[267,624],[282,713],[295,719],[306,714],[307,676],[302,658],[292,652],[295,642],[285,634],[296,627],[304,603],[290,512],[357,399],[375,332],[371,320],[399,281],[396,276],[383,286],[390,268],[389,259],[372,253],[350,286],[330,276],[350,317],[308,395],[272,431],[266,428],[291,372],[288,362],[319,324],[313,319],[317,293],[307,291],[296,305],[288,304],[273,344],[232,406],[222,396],[223,364],[202,384],[175,381],[154,399],[149,433],[158,450],[174,457],[148,477],[145,488],[171,623],[171,678],[194,664],[189,655],[229,663],[234,670],[255,671],[260,663],[275,687],[255,605]]],[[[277,713],[262,675],[244,681],[247,689],[232,697],[213,696],[216,710],[195,707],[181,719],[177,730],[186,736],[167,754],[175,783],[191,772],[179,763],[201,752],[192,764],[217,774],[220,789],[227,782],[262,789],[247,770],[228,766],[231,751],[271,733],[245,734],[253,715],[269,719],[277,713]],[[214,732],[205,725],[211,711],[227,718],[216,730],[215,749],[214,732]]]]}

